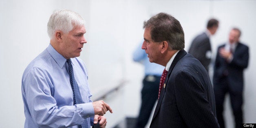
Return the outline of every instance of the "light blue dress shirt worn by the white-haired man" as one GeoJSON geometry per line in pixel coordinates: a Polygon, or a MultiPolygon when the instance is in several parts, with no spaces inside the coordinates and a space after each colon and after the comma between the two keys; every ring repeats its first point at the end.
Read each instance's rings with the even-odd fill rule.
{"type": "Polygon", "coordinates": [[[85,104],[73,105],[66,58],[49,44],[26,67],[22,76],[24,128],[78,128],[84,119],[88,119],[89,126],[93,125],[94,109],[86,66],[78,57],[71,58],[71,61],[85,104]]]}

